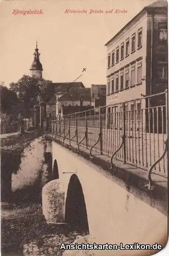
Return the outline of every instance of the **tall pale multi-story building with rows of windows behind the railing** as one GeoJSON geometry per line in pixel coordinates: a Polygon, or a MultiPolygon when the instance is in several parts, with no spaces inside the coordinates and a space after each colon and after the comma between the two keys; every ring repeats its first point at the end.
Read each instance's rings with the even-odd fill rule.
{"type": "MultiPolygon", "coordinates": [[[[106,47],[106,104],[114,104],[108,113],[122,110],[118,103],[130,100],[126,111],[145,108],[146,100],[135,101],[141,94],[153,95],[167,88],[167,2],[144,7],[106,47]]],[[[164,99],[156,98],[151,104],[160,100],[164,99]]]]}

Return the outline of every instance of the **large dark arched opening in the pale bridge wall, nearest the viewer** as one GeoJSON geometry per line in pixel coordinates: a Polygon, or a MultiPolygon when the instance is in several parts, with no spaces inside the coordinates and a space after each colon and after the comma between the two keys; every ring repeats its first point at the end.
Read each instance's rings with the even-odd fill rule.
{"type": "Polygon", "coordinates": [[[89,231],[83,190],[76,174],[71,176],[68,184],[65,222],[76,230],[89,231]]]}

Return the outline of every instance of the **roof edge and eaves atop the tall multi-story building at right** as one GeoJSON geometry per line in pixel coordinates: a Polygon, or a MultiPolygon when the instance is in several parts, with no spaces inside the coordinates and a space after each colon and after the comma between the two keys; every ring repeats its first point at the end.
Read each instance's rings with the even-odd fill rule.
{"type": "Polygon", "coordinates": [[[144,7],[139,13],[137,13],[136,16],[134,16],[130,22],[128,22],[121,30],[118,31],[117,34],[115,34],[106,44],[105,46],[107,46],[108,44],[110,44],[111,41],[113,41],[120,33],[122,33],[138,16],[140,16],[144,11],[148,11],[151,8],[157,8],[157,7],[165,7],[167,8],[167,1],[165,0],[158,0],[154,3],[152,3],[151,5],[148,5],[146,7],[144,7]]]}

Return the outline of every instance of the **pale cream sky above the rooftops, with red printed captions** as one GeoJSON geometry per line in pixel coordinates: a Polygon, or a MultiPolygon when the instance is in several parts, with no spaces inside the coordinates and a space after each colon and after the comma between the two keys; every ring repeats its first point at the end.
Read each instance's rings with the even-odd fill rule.
{"type": "Polygon", "coordinates": [[[38,40],[42,76],[53,82],[106,84],[106,42],[154,0],[0,0],[0,83],[30,75],[38,40]],[[14,14],[13,10],[42,10],[14,14]],[[65,13],[66,9],[87,13],[65,13]],[[104,13],[89,14],[91,10],[104,13]],[[112,13],[105,13],[112,10],[112,13]],[[115,13],[115,9],[126,13],[115,13]],[[83,68],[86,72],[82,73],[83,68]]]}

